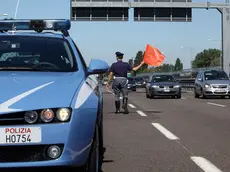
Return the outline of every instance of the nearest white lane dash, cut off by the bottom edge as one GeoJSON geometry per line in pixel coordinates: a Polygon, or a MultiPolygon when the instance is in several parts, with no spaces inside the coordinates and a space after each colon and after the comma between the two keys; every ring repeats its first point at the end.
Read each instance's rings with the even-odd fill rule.
{"type": "Polygon", "coordinates": [[[192,161],[196,163],[203,171],[205,172],[222,172],[215,165],[213,165],[210,161],[203,157],[192,156],[192,161]]]}

